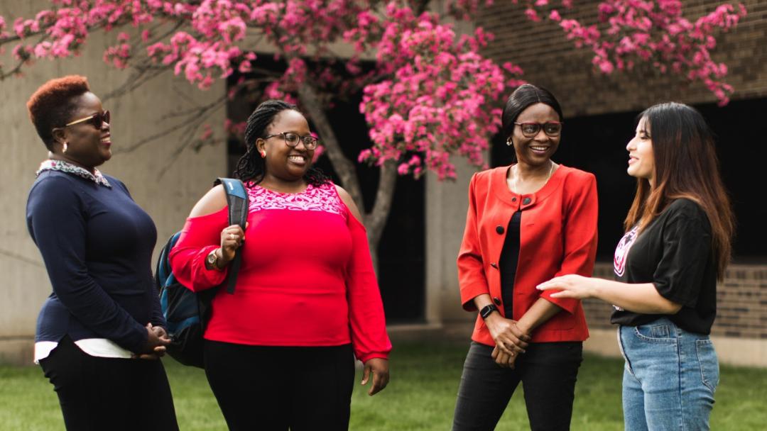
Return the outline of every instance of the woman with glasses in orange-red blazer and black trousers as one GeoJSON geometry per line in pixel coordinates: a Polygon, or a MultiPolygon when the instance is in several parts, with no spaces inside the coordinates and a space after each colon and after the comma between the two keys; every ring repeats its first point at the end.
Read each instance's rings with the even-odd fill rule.
{"type": "Polygon", "coordinates": [[[469,185],[458,256],[463,308],[479,310],[458,392],[454,430],[493,429],[519,382],[531,429],[569,429],[588,328],[581,302],[535,289],[554,276],[591,276],[597,251],[594,175],[551,160],[562,112],[525,84],[502,123],[517,162],[469,185]]]}

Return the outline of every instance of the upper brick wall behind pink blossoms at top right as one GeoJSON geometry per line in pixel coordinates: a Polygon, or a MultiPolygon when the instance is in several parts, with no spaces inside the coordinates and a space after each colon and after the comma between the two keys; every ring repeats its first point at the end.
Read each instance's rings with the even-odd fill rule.
{"type": "MultiPolygon", "coordinates": [[[[598,1],[574,2],[568,15],[587,24],[597,22],[598,1]]],[[[694,21],[716,8],[719,0],[685,1],[686,18],[694,21]]],[[[767,2],[743,2],[748,15],[728,34],[721,34],[713,59],[729,67],[727,82],[736,89],[732,100],[767,96],[767,2]]],[[[593,55],[577,49],[564,31],[551,21],[534,23],[524,8],[512,2],[495,2],[479,14],[477,24],[495,34],[485,54],[498,61],[512,61],[525,70],[525,79],[553,91],[565,116],[596,115],[641,110],[655,103],[716,101],[701,83],[662,75],[650,67],[603,75],[591,65],[593,55]]]]}

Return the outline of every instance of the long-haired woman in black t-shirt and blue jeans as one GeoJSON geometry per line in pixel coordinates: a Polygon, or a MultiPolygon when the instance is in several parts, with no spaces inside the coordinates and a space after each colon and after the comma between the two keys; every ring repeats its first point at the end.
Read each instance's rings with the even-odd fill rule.
{"type": "Polygon", "coordinates": [[[538,289],[613,304],[627,430],[709,429],[719,383],[709,333],[734,230],[713,134],[695,109],[663,103],[640,114],[626,149],[638,182],[617,281],[562,276],[538,289]]]}

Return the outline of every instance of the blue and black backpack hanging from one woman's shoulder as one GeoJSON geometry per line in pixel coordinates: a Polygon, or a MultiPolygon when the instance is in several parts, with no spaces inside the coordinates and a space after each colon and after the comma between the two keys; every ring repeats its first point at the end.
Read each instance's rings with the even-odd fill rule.
{"type": "MultiPolygon", "coordinates": [[[[214,185],[216,184],[223,184],[226,191],[229,225],[239,224],[242,230],[245,230],[245,221],[248,218],[248,193],[245,191],[245,185],[234,178],[218,178],[214,185]]],[[[222,286],[193,292],[176,280],[168,261],[168,254],[180,235],[181,232],[173,233],[160,251],[155,282],[160,290],[160,308],[163,310],[171,340],[167,348],[168,354],[184,365],[202,368],[205,365],[202,358],[202,333],[210,318],[210,304],[216,292],[224,285],[230,295],[235,292],[242,253],[236,253],[234,260],[229,263],[229,273],[222,286]]]]}

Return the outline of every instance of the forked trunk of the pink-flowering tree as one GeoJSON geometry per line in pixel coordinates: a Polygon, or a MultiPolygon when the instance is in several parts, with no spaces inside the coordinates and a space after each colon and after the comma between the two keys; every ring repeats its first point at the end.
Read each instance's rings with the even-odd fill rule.
{"type": "Polygon", "coordinates": [[[376,191],[376,200],[373,205],[373,211],[365,212],[365,205],[362,199],[362,189],[360,180],[357,177],[357,170],[354,168],[354,162],[349,160],[341,150],[341,144],[333,132],[333,127],[328,116],[325,115],[324,107],[321,105],[314,87],[304,83],[298,90],[298,97],[301,104],[307,110],[308,115],[314,126],[317,126],[322,144],[328,153],[328,158],[333,165],[334,171],[341,178],[341,187],[349,192],[354,204],[363,214],[362,224],[367,229],[367,242],[370,246],[370,257],[373,259],[373,267],[378,273],[378,243],[381,234],[384,233],[389,211],[391,211],[391,202],[394,197],[394,188],[397,184],[397,167],[394,162],[389,161],[380,167],[380,177],[378,180],[378,190],[376,191]]]}

